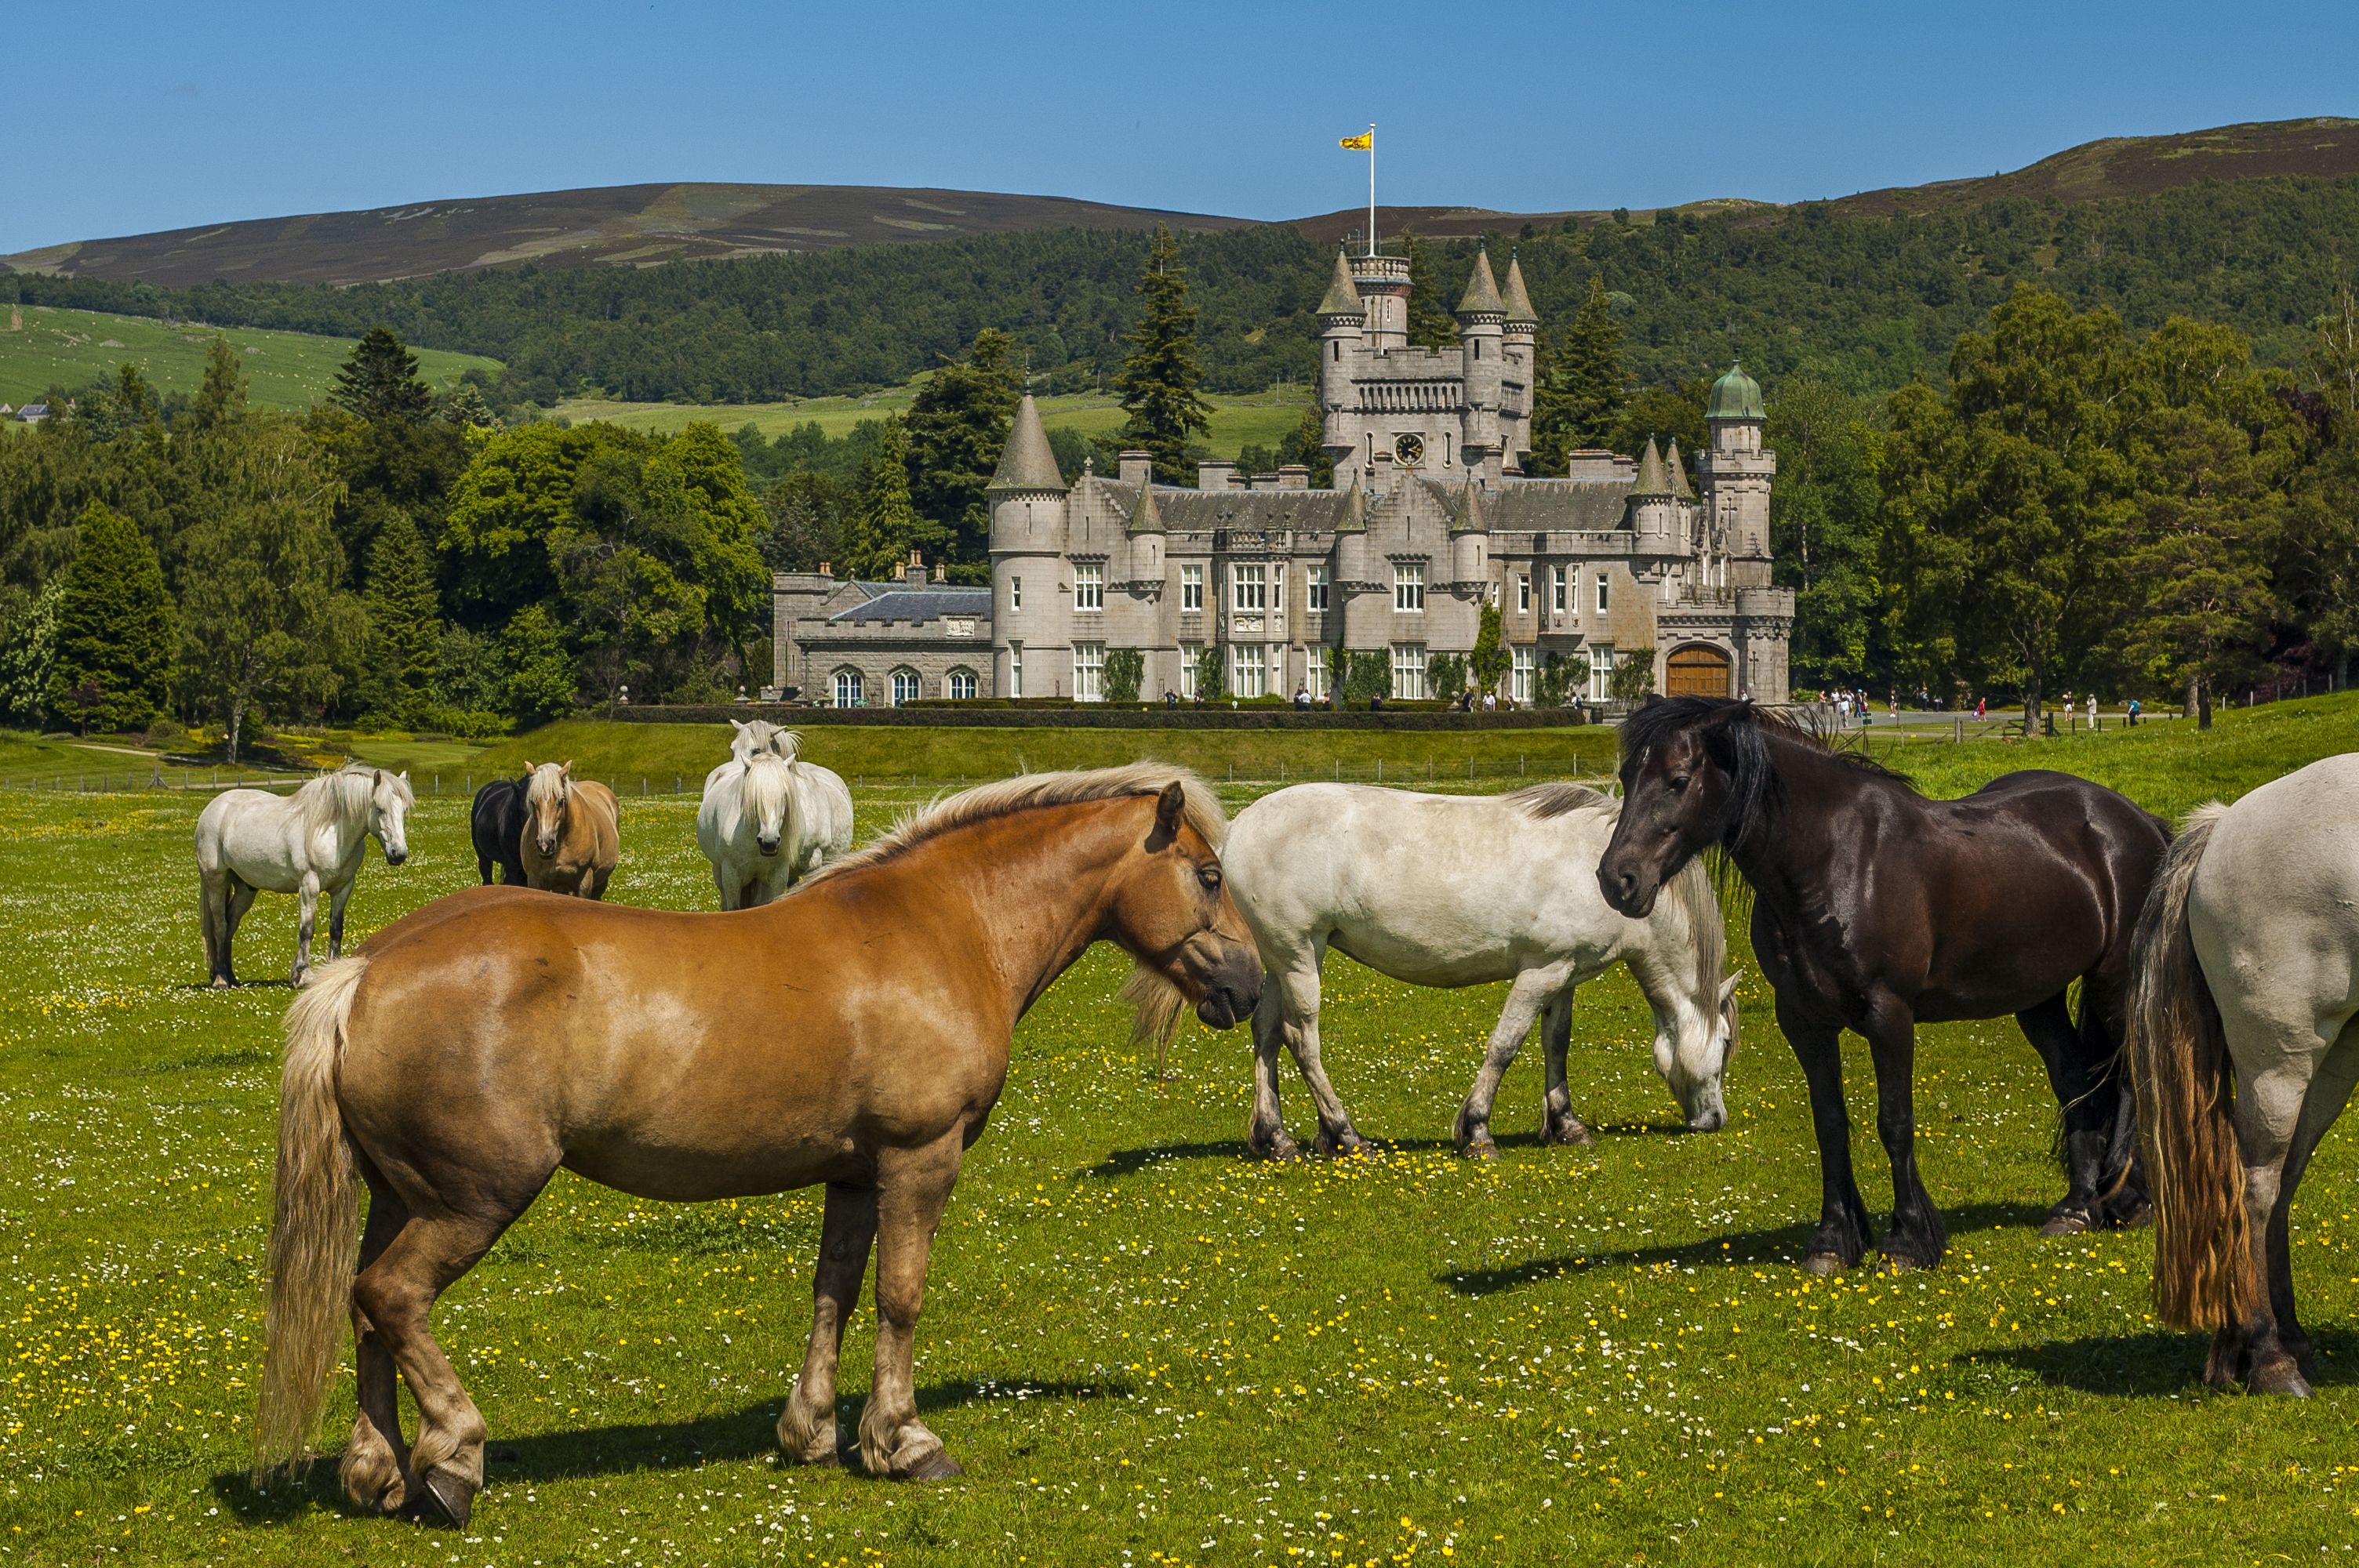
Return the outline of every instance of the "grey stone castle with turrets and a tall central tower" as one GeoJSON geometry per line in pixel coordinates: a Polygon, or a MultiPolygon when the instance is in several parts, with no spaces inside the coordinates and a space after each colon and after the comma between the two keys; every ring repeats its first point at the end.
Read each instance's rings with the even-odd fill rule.
{"type": "Polygon", "coordinates": [[[1762,394],[1713,382],[1696,483],[1677,448],[1531,467],[1538,316],[1510,259],[1479,255],[1458,347],[1408,342],[1408,262],[1335,257],[1319,302],[1319,410],[1335,488],[1309,469],[1154,483],[1146,453],[1066,481],[1026,396],[991,479],[991,587],[778,573],[778,686],[833,705],[1104,696],[1106,653],[1146,658],[1144,698],[1196,696],[1217,648],[1227,696],[1328,693],[1330,648],[1382,653],[1394,698],[1427,658],[1467,653],[1500,608],[1503,696],[1531,703],[1550,655],[1581,655],[1602,700],[1616,663],[1654,691],[1786,700],[1793,592],[1769,585],[1762,394]]]}

